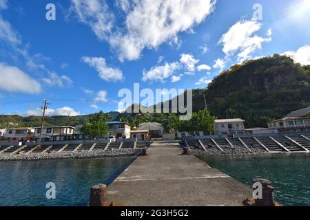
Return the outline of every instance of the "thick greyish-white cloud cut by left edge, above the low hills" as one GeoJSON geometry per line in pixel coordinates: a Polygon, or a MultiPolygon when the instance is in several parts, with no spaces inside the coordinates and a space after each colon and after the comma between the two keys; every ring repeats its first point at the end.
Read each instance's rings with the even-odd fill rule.
{"type": "Polygon", "coordinates": [[[0,63],[0,89],[25,94],[41,93],[41,85],[17,67],[0,63]]]}

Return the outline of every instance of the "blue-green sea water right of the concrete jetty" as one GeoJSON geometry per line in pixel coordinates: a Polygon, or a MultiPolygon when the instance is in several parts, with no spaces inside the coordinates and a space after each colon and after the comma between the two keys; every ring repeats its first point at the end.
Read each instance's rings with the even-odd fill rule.
{"type": "Polygon", "coordinates": [[[284,206],[310,206],[310,154],[199,158],[247,186],[256,177],[269,179],[284,206]]]}

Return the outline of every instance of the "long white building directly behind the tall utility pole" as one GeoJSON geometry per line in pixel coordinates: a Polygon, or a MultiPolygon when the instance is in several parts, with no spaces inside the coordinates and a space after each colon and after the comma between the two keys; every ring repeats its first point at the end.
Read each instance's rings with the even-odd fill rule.
{"type": "Polygon", "coordinates": [[[34,128],[34,138],[39,140],[41,134],[41,141],[59,141],[71,139],[74,135],[73,126],[44,126],[34,128]]]}

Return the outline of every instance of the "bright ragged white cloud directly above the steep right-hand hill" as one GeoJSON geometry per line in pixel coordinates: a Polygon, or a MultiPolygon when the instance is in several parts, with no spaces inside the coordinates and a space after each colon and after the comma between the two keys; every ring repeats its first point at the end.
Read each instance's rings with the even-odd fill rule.
{"type": "Polygon", "coordinates": [[[262,43],[271,41],[271,30],[267,38],[254,35],[262,28],[262,24],[257,20],[238,21],[229,28],[226,34],[223,34],[218,43],[223,44],[223,52],[227,56],[237,54],[239,61],[245,61],[257,50],[262,49],[262,43]]]}

